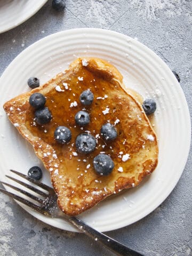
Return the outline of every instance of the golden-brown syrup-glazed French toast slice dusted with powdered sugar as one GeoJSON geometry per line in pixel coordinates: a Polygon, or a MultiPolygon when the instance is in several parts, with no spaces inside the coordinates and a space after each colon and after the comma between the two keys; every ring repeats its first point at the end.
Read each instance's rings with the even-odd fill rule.
{"type": "Polygon", "coordinates": [[[4,109],[50,172],[58,205],[68,215],[82,213],[111,194],[138,186],[157,166],[153,127],[141,105],[127,93],[122,75],[107,61],[78,58],[49,82],[7,101],[4,109]],[[87,89],[93,92],[94,100],[90,106],[83,106],[79,95],[87,89]],[[34,121],[35,110],[29,105],[29,97],[35,92],[46,97],[45,106],[52,113],[49,124],[34,121]],[[75,114],[82,109],[90,114],[90,123],[85,127],[75,123],[75,114]],[[100,129],[109,121],[116,127],[117,138],[106,143],[100,129]],[[66,145],[54,140],[54,131],[60,125],[71,130],[72,138],[66,145]],[[82,132],[90,132],[97,140],[97,147],[87,155],[77,153],[75,146],[82,132]],[[93,158],[102,153],[115,164],[106,176],[95,173],[93,168],[93,158]]]}

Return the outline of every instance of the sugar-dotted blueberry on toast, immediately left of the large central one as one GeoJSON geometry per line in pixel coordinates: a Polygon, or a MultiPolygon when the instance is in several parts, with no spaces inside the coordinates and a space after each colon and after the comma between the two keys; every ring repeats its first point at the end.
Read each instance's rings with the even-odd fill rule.
{"type": "Polygon", "coordinates": [[[58,126],[54,132],[55,140],[60,144],[65,144],[71,140],[71,131],[65,126],[58,126]]]}

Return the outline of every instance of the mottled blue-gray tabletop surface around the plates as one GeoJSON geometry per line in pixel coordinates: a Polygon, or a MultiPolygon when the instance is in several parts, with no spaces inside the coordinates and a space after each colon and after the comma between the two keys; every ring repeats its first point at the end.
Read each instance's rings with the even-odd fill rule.
{"type": "MultiPolygon", "coordinates": [[[[52,33],[96,27],[137,37],[179,73],[190,113],[191,0],[67,0],[65,12],[51,1],[19,27],[0,35],[0,75],[25,47],[52,33]]],[[[107,234],[146,256],[192,255],[191,151],[171,195],[154,212],[107,234]]],[[[83,234],[52,228],[0,194],[0,255],[111,255],[83,234]]]]}

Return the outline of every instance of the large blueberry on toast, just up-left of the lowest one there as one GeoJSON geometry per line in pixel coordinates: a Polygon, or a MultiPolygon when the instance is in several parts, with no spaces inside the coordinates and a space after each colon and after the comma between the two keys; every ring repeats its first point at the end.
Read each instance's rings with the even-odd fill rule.
{"type": "Polygon", "coordinates": [[[81,133],[76,138],[76,148],[78,153],[89,154],[96,147],[96,140],[89,133],[81,133]]]}

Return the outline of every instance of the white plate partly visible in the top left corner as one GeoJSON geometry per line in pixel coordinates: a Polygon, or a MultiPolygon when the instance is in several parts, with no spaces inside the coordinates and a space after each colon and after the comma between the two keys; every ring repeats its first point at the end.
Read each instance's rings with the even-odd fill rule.
{"type": "Polygon", "coordinates": [[[46,2],[47,0],[0,0],[0,33],[28,20],[46,2]]]}

